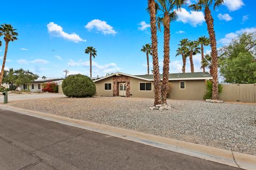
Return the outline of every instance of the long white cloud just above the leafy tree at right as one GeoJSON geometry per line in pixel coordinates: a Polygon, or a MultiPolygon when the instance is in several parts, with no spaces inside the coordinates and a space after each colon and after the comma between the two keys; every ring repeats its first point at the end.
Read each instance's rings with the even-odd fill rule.
{"type": "Polygon", "coordinates": [[[241,29],[241,30],[238,30],[236,32],[230,32],[228,33],[225,38],[222,38],[218,41],[218,43],[222,46],[226,46],[228,45],[232,39],[236,38],[239,34],[242,34],[244,32],[255,32],[256,31],[256,28],[244,28],[244,29],[241,29]]]}

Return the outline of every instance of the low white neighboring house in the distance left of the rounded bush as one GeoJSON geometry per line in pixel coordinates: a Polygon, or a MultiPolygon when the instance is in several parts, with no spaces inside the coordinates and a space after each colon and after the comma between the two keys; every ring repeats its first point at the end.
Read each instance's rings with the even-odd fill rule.
{"type": "Polygon", "coordinates": [[[47,82],[56,82],[58,85],[61,85],[63,78],[57,79],[37,79],[31,83],[21,84],[17,90],[30,90],[31,92],[42,91],[42,84],[47,82]]]}

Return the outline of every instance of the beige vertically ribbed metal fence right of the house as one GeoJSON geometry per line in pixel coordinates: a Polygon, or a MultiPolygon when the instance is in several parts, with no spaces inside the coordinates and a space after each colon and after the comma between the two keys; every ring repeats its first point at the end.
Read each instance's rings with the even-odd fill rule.
{"type": "Polygon", "coordinates": [[[256,84],[222,84],[222,87],[221,100],[256,102],[256,84]]]}

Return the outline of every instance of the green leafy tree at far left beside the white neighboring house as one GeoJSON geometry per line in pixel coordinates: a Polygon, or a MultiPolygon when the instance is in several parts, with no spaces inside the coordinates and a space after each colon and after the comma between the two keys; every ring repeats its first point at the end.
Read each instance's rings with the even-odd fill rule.
{"type": "Polygon", "coordinates": [[[20,84],[30,83],[39,78],[37,74],[34,74],[30,71],[23,69],[13,70],[12,68],[9,71],[4,71],[4,83],[9,83],[13,87],[15,84],[15,89],[17,89],[20,84]]]}

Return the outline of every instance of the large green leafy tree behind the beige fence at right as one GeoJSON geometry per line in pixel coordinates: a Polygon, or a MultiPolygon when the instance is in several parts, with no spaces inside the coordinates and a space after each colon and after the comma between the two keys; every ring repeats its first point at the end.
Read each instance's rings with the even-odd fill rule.
{"type": "Polygon", "coordinates": [[[256,32],[243,33],[220,50],[220,73],[227,83],[256,83],[256,32]]]}

